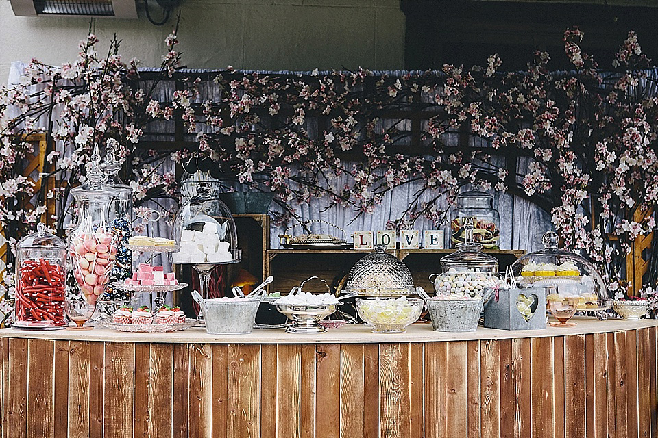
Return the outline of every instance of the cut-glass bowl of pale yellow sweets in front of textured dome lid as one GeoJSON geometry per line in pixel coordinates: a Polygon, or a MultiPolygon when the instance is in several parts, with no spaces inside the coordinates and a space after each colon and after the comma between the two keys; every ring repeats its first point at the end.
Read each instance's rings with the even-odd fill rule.
{"type": "Polygon", "coordinates": [[[423,305],[420,298],[356,298],[356,311],[372,333],[404,333],[420,318],[423,305]]]}

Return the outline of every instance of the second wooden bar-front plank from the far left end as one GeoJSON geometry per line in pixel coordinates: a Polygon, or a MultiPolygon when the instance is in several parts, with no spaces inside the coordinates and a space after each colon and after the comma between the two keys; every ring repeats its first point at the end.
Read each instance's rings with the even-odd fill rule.
{"type": "Polygon", "coordinates": [[[9,339],[8,437],[27,435],[27,339],[9,339]]]}

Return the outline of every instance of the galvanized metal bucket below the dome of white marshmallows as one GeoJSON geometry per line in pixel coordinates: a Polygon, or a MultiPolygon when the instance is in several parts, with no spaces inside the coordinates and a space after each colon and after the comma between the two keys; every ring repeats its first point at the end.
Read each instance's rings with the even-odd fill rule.
{"type": "Polygon", "coordinates": [[[260,300],[204,300],[196,291],[192,291],[192,297],[204,312],[206,332],[212,335],[252,333],[260,300]]]}

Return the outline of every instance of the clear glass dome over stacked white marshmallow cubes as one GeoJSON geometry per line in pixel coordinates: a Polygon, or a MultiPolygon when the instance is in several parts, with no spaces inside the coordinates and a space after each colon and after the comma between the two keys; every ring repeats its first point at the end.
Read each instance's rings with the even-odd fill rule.
{"type": "Polygon", "coordinates": [[[241,261],[233,216],[210,183],[196,183],[196,194],[176,214],[173,238],[180,246],[180,251],[173,253],[173,263],[215,265],[241,261]]]}

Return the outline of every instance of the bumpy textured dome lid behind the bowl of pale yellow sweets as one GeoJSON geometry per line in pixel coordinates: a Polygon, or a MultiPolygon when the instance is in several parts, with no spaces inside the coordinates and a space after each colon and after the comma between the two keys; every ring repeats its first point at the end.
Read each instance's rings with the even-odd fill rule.
{"type": "Polygon", "coordinates": [[[397,257],[387,254],[383,245],[357,261],[345,284],[345,292],[368,296],[403,296],[414,294],[411,272],[397,257]]]}

